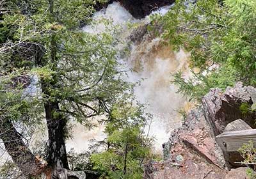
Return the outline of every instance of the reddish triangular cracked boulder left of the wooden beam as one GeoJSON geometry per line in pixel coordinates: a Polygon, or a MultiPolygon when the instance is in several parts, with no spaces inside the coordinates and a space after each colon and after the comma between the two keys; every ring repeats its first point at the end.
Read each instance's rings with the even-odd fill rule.
{"type": "Polygon", "coordinates": [[[163,144],[165,161],[145,169],[148,179],[225,178],[225,160],[201,107],[163,144]]]}

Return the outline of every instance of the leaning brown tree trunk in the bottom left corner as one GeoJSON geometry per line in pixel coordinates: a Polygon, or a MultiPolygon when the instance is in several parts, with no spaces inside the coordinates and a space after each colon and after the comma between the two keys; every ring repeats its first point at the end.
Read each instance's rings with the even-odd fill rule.
{"type": "Polygon", "coordinates": [[[22,136],[20,136],[10,120],[2,120],[0,122],[0,137],[13,162],[17,164],[17,167],[25,176],[36,176],[42,172],[45,167],[44,164],[41,164],[36,159],[35,155],[22,141],[22,136]]]}

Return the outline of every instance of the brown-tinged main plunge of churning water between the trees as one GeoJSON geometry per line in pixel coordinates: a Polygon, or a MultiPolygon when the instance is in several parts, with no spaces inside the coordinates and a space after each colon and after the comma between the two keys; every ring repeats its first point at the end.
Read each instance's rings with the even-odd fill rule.
{"type": "Polygon", "coordinates": [[[179,70],[185,78],[191,75],[188,61],[189,53],[182,50],[175,52],[161,38],[149,35],[134,45],[127,58],[133,69],[129,80],[136,82],[143,79],[141,85],[136,87],[135,95],[140,102],[148,104],[147,112],[154,116],[147,130],[150,130],[150,136],[156,138],[156,150],[161,150],[161,144],[168,141],[170,131],[180,126],[178,111],[191,108],[191,104],[177,93],[177,86],[172,84],[172,74],[179,70]]]}

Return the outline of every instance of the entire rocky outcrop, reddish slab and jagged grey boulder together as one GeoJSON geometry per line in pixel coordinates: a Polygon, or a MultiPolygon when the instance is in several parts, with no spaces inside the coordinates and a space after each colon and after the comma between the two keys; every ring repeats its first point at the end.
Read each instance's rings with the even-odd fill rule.
{"type": "Polygon", "coordinates": [[[234,160],[241,159],[233,154],[223,155],[215,136],[239,118],[255,128],[255,114],[244,115],[239,109],[243,103],[256,102],[255,96],[256,89],[241,82],[224,93],[211,89],[203,98],[202,106],[191,111],[182,127],[174,130],[168,143],[163,144],[164,162],[150,162],[145,167],[144,178],[246,178],[244,167],[228,171],[235,167],[234,160]]]}

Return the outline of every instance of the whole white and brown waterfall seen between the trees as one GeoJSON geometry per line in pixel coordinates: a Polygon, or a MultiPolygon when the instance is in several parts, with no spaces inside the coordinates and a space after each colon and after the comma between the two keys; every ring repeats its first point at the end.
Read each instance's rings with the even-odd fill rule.
{"type": "MultiPolygon", "coordinates": [[[[169,8],[170,6],[164,7],[152,13],[164,15],[169,8]]],[[[156,151],[161,151],[162,144],[168,141],[170,137],[170,132],[181,125],[179,109],[181,107],[189,108],[189,103],[176,93],[177,87],[171,82],[172,74],[178,70],[182,70],[186,77],[190,75],[189,54],[182,50],[179,52],[172,51],[172,47],[163,45],[163,40],[159,37],[152,38],[144,35],[141,42],[132,42],[129,38],[132,34],[132,28],[129,28],[127,24],[143,26],[150,22],[150,17],[136,20],[120,3],[109,4],[108,8],[93,15],[95,21],[100,21],[102,18],[111,20],[113,26],[120,27],[121,36],[116,36],[123,41],[123,43],[118,44],[120,51],[129,44],[130,53],[126,56],[120,55],[118,60],[120,63],[124,63],[127,69],[133,69],[128,73],[125,80],[129,82],[141,81],[140,86],[134,89],[134,93],[139,102],[148,104],[146,112],[153,114],[152,121],[148,124],[145,132],[149,131],[148,134],[154,137],[156,151]]],[[[104,31],[111,33],[111,26],[106,26],[100,22],[83,27],[83,31],[93,34],[104,31]]],[[[113,35],[115,36],[115,34],[113,35]]],[[[85,141],[93,138],[104,139],[103,130],[104,127],[101,125],[91,131],[86,131],[77,125],[77,128],[74,128],[74,139],[68,141],[67,149],[73,147],[77,152],[86,149],[84,144],[87,142],[85,141]]]]}

